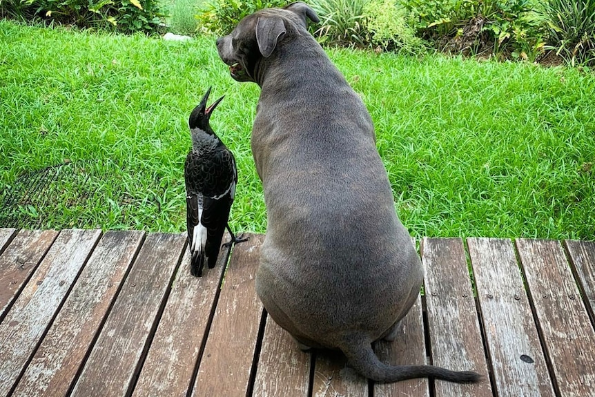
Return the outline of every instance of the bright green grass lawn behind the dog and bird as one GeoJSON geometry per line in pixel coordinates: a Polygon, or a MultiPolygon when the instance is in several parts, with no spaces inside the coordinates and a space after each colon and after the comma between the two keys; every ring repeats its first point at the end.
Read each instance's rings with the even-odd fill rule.
{"type": "MultiPolygon", "coordinates": [[[[413,235],[595,240],[595,75],[329,54],[370,110],[413,235]]],[[[172,43],[0,21],[0,76],[0,202],[19,175],[65,159],[82,175],[19,209],[31,227],[184,230],[186,121],[213,86],[213,99],[226,99],[212,125],[240,174],[231,225],[264,232],[250,151],[259,90],[228,76],[212,37],[172,43]]]]}

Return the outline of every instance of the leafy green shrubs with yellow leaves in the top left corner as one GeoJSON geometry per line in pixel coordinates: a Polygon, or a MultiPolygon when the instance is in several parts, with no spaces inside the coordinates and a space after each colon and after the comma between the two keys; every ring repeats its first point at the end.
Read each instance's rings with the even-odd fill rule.
{"type": "Polygon", "coordinates": [[[25,21],[149,34],[159,30],[164,17],[157,0],[0,0],[0,14],[25,21]]]}

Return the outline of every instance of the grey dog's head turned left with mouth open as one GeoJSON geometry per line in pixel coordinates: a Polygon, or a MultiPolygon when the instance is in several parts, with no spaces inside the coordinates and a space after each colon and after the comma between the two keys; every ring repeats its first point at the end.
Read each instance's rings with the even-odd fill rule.
{"type": "Polygon", "coordinates": [[[217,39],[217,52],[237,81],[256,81],[260,59],[269,58],[277,44],[298,35],[308,35],[307,21],[318,15],[306,3],[284,8],[266,8],[250,14],[227,36],[217,39]]]}

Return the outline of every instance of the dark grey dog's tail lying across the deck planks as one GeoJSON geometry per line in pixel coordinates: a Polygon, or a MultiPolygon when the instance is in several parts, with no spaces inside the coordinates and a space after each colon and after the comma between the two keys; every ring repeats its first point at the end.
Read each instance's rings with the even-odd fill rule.
{"type": "Polygon", "coordinates": [[[363,339],[346,343],[341,350],[355,371],[378,383],[393,383],[412,378],[433,378],[454,383],[478,383],[481,376],[474,371],[451,371],[433,365],[397,365],[381,362],[374,354],[371,344],[363,339]]]}

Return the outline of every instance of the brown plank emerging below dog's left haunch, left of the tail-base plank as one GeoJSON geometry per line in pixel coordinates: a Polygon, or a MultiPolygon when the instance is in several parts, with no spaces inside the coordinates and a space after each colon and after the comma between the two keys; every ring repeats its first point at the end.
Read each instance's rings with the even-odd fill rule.
{"type": "Polygon", "coordinates": [[[266,318],[253,396],[307,397],[311,355],[295,345],[288,332],[266,318]]]}

